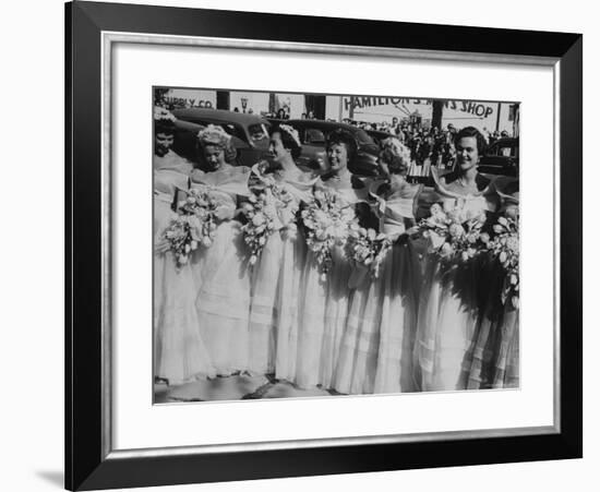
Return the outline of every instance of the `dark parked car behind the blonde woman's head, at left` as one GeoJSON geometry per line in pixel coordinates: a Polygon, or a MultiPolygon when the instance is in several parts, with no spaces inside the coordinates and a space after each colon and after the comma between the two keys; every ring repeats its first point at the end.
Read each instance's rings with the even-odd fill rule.
{"type": "Polygon", "coordinates": [[[177,133],[173,149],[197,161],[196,134],[208,124],[221,127],[238,151],[237,164],[251,167],[268,154],[268,127],[264,118],[223,109],[175,109],[177,133]]]}

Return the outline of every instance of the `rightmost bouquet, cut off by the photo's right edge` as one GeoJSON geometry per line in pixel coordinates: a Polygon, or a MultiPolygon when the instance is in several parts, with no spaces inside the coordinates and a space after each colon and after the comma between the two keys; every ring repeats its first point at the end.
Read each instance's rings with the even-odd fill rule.
{"type": "MultiPolygon", "coordinates": [[[[502,303],[509,301],[514,308],[519,307],[519,225],[516,217],[500,217],[493,227],[495,236],[482,241],[488,251],[497,259],[506,276],[502,288],[502,303]]],[[[482,235],[483,236],[483,235],[482,235]]]]}

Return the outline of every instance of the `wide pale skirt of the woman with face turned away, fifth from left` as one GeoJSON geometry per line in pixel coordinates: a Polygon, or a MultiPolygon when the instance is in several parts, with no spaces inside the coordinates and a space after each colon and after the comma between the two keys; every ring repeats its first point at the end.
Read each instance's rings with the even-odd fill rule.
{"type": "Polygon", "coordinates": [[[377,278],[364,272],[351,296],[334,387],[345,394],[412,392],[418,257],[409,243],[396,244],[377,278]]]}

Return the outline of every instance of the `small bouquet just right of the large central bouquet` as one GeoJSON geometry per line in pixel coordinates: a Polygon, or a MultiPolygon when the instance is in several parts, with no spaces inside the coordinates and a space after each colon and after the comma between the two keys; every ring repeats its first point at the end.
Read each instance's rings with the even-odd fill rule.
{"type": "Polygon", "coordinates": [[[350,235],[346,242],[346,256],[357,265],[365,266],[373,278],[377,278],[381,265],[392,241],[384,235],[377,235],[373,229],[364,229],[356,224],[350,226],[350,235]]]}

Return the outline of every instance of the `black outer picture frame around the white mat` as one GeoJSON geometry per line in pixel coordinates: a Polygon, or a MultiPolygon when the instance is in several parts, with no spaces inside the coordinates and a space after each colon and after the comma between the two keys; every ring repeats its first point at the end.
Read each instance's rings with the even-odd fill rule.
{"type": "Polygon", "coordinates": [[[583,36],[350,19],[65,5],[65,488],[93,490],[583,456],[583,36]],[[543,57],[560,63],[560,418],[555,432],[422,442],[112,456],[103,385],[101,33],[543,57]]]}

